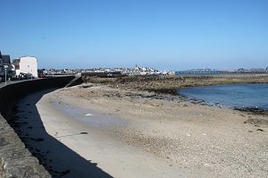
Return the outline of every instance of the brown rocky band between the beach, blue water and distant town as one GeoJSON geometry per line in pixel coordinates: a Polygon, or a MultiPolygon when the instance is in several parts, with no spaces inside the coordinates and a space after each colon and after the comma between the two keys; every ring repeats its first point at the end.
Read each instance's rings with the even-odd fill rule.
{"type": "Polygon", "coordinates": [[[104,78],[83,76],[84,82],[109,84],[120,89],[138,89],[157,93],[177,94],[178,89],[234,83],[268,83],[268,74],[230,75],[230,76],[126,76],[104,78]]]}

